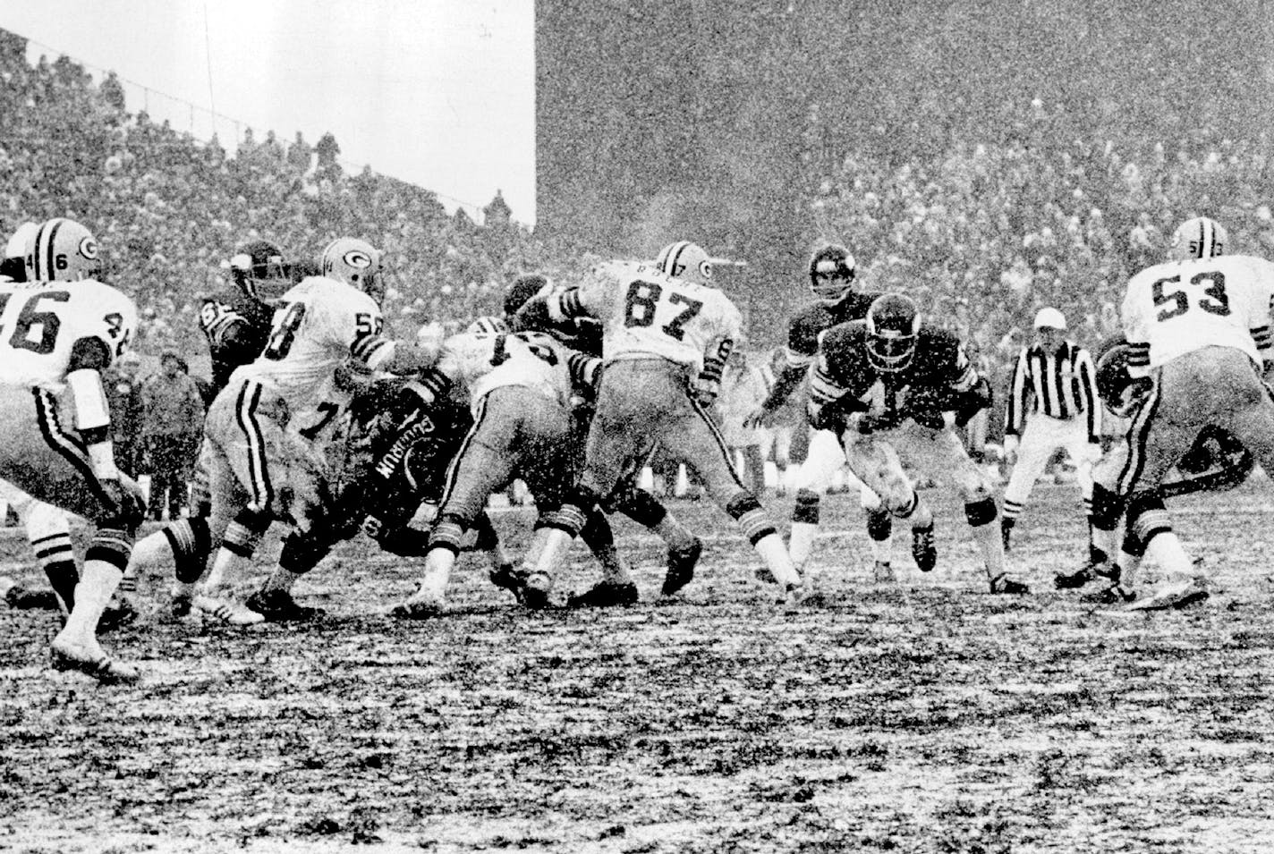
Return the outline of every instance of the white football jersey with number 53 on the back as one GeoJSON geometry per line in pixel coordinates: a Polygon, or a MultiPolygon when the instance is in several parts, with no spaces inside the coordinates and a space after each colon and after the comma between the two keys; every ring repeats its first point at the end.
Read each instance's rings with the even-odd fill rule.
{"type": "Polygon", "coordinates": [[[1127,283],[1124,335],[1149,346],[1140,368],[1208,346],[1242,350],[1259,364],[1259,350],[1269,346],[1271,294],[1274,263],[1265,258],[1223,255],[1158,263],[1127,283]]]}

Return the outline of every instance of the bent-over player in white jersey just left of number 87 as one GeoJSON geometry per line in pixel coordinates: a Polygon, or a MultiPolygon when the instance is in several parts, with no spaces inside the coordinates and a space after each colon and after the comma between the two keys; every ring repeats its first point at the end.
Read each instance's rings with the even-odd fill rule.
{"type": "Polygon", "coordinates": [[[553,570],[589,507],[575,487],[569,398],[598,369],[596,359],[548,335],[511,333],[499,318],[479,318],[446,340],[434,373],[468,392],[474,423],[447,468],[419,587],[395,606],[395,616],[427,617],[446,607],[465,535],[490,495],[513,479],[527,485],[538,509],[515,594],[530,608],[548,606],[553,570]]]}

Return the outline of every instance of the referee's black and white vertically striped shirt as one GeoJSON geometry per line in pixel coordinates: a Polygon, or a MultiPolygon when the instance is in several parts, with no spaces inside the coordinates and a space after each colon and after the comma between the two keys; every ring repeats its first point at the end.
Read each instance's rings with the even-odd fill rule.
{"type": "Polygon", "coordinates": [[[1004,433],[1020,435],[1026,420],[1027,395],[1033,397],[1032,412],[1055,419],[1088,416],[1088,440],[1097,442],[1102,431],[1102,407],[1097,397],[1097,370],[1093,358],[1074,341],[1065,341],[1052,353],[1038,344],[1022,347],[1013,368],[1009,412],[1004,433]]]}

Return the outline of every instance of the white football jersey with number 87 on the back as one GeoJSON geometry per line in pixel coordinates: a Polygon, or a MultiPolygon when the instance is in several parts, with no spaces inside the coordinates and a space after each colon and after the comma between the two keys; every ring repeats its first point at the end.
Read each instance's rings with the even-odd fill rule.
{"type": "Polygon", "coordinates": [[[603,263],[594,274],[578,289],[580,304],[603,322],[608,363],[657,356],[698,373],[711,345],[740,337],[743,317],[716,288],[624,261],[603,263]]]}

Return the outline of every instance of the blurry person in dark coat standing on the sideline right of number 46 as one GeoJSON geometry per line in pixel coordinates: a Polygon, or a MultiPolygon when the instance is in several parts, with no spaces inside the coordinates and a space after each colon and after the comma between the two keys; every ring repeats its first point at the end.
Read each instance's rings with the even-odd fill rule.
{"type": "Polygon", "coordinates": [[[163,519],[166,499],[169,519],[180,518],[186,507],[204,424],[204,401],[195,381],[182,370],[182,358],[168,351],[159,365],[141,388],[141,435],[150,472],[150,518],[155,521],[163,519]]]}

